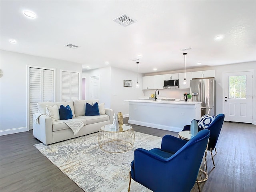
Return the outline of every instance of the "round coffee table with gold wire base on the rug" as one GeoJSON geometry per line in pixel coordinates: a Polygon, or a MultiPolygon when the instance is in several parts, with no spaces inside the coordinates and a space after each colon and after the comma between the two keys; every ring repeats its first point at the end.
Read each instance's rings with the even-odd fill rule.
{"type": "Polygon", "coordinates": [[[108,153],[122,153],[130,150],[134,144],[135,134],[132,126],[123,124],[121,130],[102,126],[98,132],[100,148],[108,153]]]}

